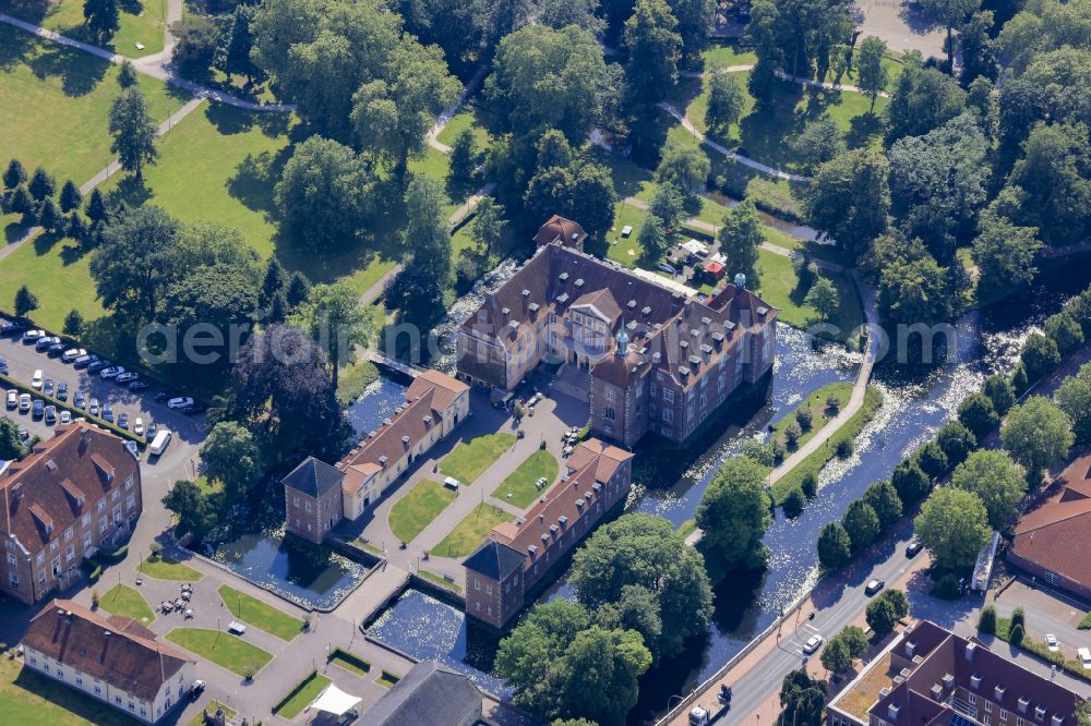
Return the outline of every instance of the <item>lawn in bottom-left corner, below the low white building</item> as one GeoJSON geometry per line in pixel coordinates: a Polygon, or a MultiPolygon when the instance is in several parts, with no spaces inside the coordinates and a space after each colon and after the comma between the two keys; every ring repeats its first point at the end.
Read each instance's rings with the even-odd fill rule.
{"type": "Polygon", "coordinates": [[[0,721],[51,726],[135,726],[134,718],[64,683],[0,658],[0,721]]]}

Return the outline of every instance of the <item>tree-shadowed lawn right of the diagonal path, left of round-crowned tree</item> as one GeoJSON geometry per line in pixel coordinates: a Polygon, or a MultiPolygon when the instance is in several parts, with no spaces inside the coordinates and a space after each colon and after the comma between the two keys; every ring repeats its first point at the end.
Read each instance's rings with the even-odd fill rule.
{"type": "Polygon", "coordinates": [[[291,155],[291,117],[212,101],[159,142],[159,159],[136,186],[120,176],[103,191],[130,204],[155,204],[182,221],[207,219],[238,229],[262,255],[273,254],[273,187],[291,155]]]}

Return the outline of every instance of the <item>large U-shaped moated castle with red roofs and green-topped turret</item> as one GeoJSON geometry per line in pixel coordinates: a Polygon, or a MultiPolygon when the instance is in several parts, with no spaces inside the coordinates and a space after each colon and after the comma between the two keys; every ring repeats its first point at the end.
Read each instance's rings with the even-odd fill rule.
{"type": "Polygon", "coordinates": [[[535,255],[459,326],[460,378],[512,390],[543,361],[566,364],[585,376],[591,432],[632,448],[649,432],[685,440],[771,370],[779,311],[742,276],[703,299],[584,254],[567,243],[582,232],[551,218],[535,255]]]}

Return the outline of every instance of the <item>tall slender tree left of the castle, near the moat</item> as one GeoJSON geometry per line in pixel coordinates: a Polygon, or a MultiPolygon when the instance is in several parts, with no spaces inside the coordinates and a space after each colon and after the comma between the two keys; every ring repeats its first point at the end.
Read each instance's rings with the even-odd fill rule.
{"type": "Polygon", "coordinates": [[[399,319],[421,331],[444,311],[443,299],[451,285],[451,232],[444,218],[446,195],[439,182],[413,177],[406,192],[409,222],[403,234],[406,263],[387,290],[387,300],[399,311],[399,319]]]}

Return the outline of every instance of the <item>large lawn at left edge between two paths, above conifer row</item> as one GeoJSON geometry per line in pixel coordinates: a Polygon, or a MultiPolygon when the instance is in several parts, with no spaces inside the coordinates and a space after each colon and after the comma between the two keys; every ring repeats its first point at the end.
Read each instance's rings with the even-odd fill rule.
{"type": "MultiPolygon", "coordinates": [[[[58,189],[91,179],[113,158],[108,117],[117,66],[10,25],[0,25],[0,159],[16,157],[28,172],[45,167],[58,189]]],[[[145,75],[140,86],[160,121],[188,98],[145,75]]]]}

